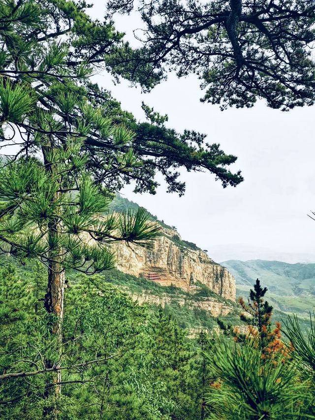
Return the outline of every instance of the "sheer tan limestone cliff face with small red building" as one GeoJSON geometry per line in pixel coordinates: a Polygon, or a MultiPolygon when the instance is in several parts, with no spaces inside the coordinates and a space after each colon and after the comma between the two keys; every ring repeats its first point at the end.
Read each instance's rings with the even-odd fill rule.
{"type": "Polygon", "coordinates": [[[125,243],[115,245],[117,269],[127,274],[151,276],[162,286],[173,284],[185,291],[200,282],[220,296],[235,301],[235,279],[200,249],[182,241],[175,230],[163,229],[152,250],[125,243]]]}

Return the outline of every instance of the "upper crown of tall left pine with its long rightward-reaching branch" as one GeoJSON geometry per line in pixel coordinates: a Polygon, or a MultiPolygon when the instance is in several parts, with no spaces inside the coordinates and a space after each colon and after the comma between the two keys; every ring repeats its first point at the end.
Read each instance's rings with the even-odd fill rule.
{"type": "Polygon", "coordinates": [[[113,71],[111,63],[131,48],[110,19],[92,20],[88,7],[85,1],[1,1],[1,138],[18,138],[30,156],[51,137],[82,136],[95,178],[116,191],[133,181],[135,191],[154,194],[159,171],[169,191],[183,194],[179,167],[207,168],[223,186],[239,184],[240,172],[228,170],[236,158],[216,144],[203,146],[204,135],[166,128],[166,118],[145,105],[150,123],[137,123],[91,82],[95,69],[113,71]]]}

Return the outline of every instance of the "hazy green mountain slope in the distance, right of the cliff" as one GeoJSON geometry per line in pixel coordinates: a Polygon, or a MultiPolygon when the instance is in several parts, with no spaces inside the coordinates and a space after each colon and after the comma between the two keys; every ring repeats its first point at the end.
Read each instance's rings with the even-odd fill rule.
{"type": "Polygon", "coordinates": [[[267,300],[285,313],[307,318],[315,308],[315,264],[231,259],[221,264],[236,279],[237,295],[247,296],[257,278],[268,288],[267,300]]]}

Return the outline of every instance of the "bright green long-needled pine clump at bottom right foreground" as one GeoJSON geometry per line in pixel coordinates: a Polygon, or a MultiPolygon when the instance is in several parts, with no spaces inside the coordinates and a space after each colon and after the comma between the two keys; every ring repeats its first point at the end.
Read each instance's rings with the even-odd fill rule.
{"type": "Polygon", "coordinates": [[[223,384],[207,395],[215,409],[210,418],[314,418],[309,411],[312,390],[296,380],[296,364],[265,360],[252,344],[227,341],[220,342],[211,361],[223,384]]]}

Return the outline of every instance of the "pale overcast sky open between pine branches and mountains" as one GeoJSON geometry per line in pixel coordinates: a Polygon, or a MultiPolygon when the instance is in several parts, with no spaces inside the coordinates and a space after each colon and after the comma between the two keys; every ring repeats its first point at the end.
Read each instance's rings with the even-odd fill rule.
{"type": "MultiPolygon", "coordinates": [[[[100,1],[95,3],[93,14],[100,17],[104,9],[100,1]]],[[[137,25],[134,16],[117,18],[117,29],[129,39],[137,25]]],[[[199,101],[202,92],[193,76],[170,75],[150,94],[141,94],[125,81],[114,86],[106,75],[96,79],[139,120],[144,119],[144,101],[168,114],[169,127],[206,133],[208,142],[220,143],[226,153],[238,156],[232,169],[241,169],[245,178],[238,187],[223,189],[210,173],[183,171],[183,197],[167,194],[161,183],[156,195],[133,194],[126,188],[127,198],[177,226],[184,239],[218,261],[227,259],[227,247],[221,246],[227,244],[228,258],[241,258],[242,248],[255,249],[254,258],[265,258],[263,248],[315,255],[315,221],[307,217],[315,210],[314,107],[282,112],[261,101],[252,109],[222,112],[217,105],[199,101]]]]}

